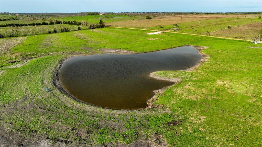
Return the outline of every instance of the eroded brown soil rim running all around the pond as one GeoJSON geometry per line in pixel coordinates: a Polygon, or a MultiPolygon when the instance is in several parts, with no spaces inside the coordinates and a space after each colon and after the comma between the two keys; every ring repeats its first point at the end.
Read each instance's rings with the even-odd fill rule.
{"type": "MultiPolygon", "coordinates": [[[[183,46],[192,46],[192,45],[183,45],[183,46]]],[[[178,47],[183,47],[183,46],[178,46],[178,47]]],[[[202,53],[201,51],[203,49],[206,49],[208,47],[204,47],[204,46],[193,46],[195,47],[195,49],[198,50],[198,54],[200,54],[202,56],[201,60],[196,63],[195,66],[193,67],[190,67],[186,70],[183,70],[183,71],[193,71],[196,67],[199,67],[204,61],[207,61],[207,58],[209,58],[209,55],[207,54],[204,54],[202,53]]],[[[171,48],[166,48],[166,49],[162,49],[162,50],[167,50],[167,49],[172,49],[172,48],[177,48],[177,47],[171,47],[171,48]]],[[[103,50],[103,49],[101,49],[103,50]]],[[[155,90],[153,91],[153,94],[148,98],[147,100],[147,107],[145,108],[142,108],[142,109],[113,109],[113,108],[106,108],[106,107],[101,107],[101,106],[97,106],[97,105],[94,105],[94,104],[90,104],[90,103],[86,103],[82,100],[79,100],[77,98],[75,98],[73,95],[69,94],[62,86],[62,83],[60,82],[59,80],[59,70],[61,69],[63,63],[65,60],[67,60],[68,58],[72,57],[72,56],[86,56],[86,55],[93,55],[93,54],[106,54],[106,53],[117,53],[117,54],[141,54],[141,53],[136,53],[136,52],[133,52],[133,51],[128,51],[128,50],[117,50],[117,49],[104,49],[105,52],[103,53],[92,53],[92,54],[78,54],[78,55],[69,55],[67,56],[66,58],[64,58],[60,63],[58,63],[57,65],[57,68],[54,70],[53,72],[53,86],[56,87],[61,93],[67,95],[69,98],[75,100],[75,101],[78,101],[80,103],[84,103],[84,104],[88,104],[88,105],[91,105],[91,106],[96,106],[96,107],[99,107],[99,108],[104,108],[104,109],[112,109],[112,110],[145,110],[145,109],[149,109],[149,108],[158,108],[159,106],[157,107],[154,107],[152,105],[152,103],[154,101],[157,100],[157,94],[158,93],[163,93],[165,92],[166,89],[170,88],[171,86],[173,86],[174,84],[177,84],[178,82],[180,82],[180,78],[177,77],[177,78],[165,78],[165,77],[159,77],[157,76],[155,73],[156,72],[159,72],[159,71],[156,71],[156,72],[152,72],[149,74],[150,77],[153,77],[153,78],[156,78],[158,80],[166,80],[166,81],[171,81],[171,82],[174,82],[174,84],[170,85],[170,86],[167,86],[167,87],[163,87],[161,89],[158,89],[158,90],[155,90]],[[107,51],[106,51],[107,50],[107,51]],[[108,51],[109,50],[109,51],[108,51]]],[[[157,51],[160,51],[160,50],[154,50],[154,51],[151,51],[151,52],[157,52],[157,51]]],[[[143,52],[143,53],[148,53],[148,52],[143,52]]]]}

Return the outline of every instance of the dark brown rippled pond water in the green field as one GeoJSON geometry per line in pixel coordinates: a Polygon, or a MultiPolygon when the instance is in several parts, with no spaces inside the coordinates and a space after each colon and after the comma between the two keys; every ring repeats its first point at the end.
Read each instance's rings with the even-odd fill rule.
{"type": "Polygon", "coordinates": [[[113,109],[142,109],[153,91],[169,81],[149,76],[159,70],[185,70],[201,55],[192,46],[141,54],[73,56],[59,71],[63,88],[75,98],[113,109]]]}

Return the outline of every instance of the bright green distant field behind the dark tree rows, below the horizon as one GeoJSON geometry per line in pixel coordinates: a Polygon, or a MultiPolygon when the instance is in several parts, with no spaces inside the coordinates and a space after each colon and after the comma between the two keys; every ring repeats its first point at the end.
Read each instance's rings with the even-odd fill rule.
{"type": "Polygon", "coordinates": [[[57,17],[57,18],[48,18],[46,20],[66,20],[66,21],[82,21],[97,23],[99,19],[102,19],[104,22],[114,22],[122,20],[133,20],[137,18],[143,18],[144,16],[128,16],[128,15],[86,15],[86,16],[69,16],[69,17],[57,17]]]}

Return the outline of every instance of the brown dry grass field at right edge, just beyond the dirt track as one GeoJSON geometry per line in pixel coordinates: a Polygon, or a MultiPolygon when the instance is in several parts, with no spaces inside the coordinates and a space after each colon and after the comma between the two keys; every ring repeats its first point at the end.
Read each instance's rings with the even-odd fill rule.
{"type": "Polygon", "coordinates": [[[259,30],[262,28],[262,23],[254,23],[233,27],[231,29],[210,32],[210,35],[253,39],[258,35],[259,30]]]}

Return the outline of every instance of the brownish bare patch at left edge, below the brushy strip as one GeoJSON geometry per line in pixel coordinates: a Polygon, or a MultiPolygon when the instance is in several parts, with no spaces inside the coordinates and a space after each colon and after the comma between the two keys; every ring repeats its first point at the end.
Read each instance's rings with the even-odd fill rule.
{"type": "Polygon", "coordinates": [[[0,53],[9,52],[10,49],[23,42],[27,37],[0,39],[0,53]]]}

